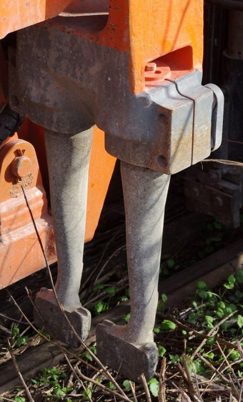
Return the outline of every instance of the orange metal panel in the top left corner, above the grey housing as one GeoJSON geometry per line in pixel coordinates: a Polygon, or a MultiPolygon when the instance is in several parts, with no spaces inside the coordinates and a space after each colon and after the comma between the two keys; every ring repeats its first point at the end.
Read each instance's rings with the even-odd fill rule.
{"type": "Polygon", "coordinates": [[[71,0],[1,0],[0,39],[61,13],[71,0]]]}

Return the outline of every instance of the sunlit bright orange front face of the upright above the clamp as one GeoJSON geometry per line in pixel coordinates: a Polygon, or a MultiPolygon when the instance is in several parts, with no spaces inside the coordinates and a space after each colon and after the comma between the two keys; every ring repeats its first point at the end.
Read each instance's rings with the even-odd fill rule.
{"type": "Polygon", "coordinates": [[[130,75],[134,92],[144,87],[141,72],[148,61],[174,50],[192,47],[193,68],[202,67],[203,0],[130,2],[130,75]],[[145,12],[146,10],[146,12],[145,12]]]}

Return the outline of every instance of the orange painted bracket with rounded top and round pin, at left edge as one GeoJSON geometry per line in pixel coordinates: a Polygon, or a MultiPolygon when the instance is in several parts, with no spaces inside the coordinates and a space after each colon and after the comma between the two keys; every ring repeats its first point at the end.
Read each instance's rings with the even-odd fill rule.
{"type": "Polygon", "coordinates": [[[24,140],[13,139],[0,150],[0,288],[46,265],[22,186],[48,261],[56,260],[51,217],[35,149],[24,140]]]}

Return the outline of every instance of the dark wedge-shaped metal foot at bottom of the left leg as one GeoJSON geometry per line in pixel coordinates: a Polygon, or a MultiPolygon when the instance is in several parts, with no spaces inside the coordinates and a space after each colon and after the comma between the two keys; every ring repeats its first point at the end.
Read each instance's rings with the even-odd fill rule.
{"type": "Polygon", "coordinates": [[[73,348],[80,346],[80,341],[71,326],[83,341],[87,338],[91,325],[91,314],[89,310],[84,309],[81,305],[80,308],[72,312],[64,310],[71,326],[57,305],[52,290],[42,287],[37,293],[35,306],[40,313],[34,310],[36,325],[39,328],[43,328],[47,333],[51,331],[58,341],[66,343],[73,348]]]}

